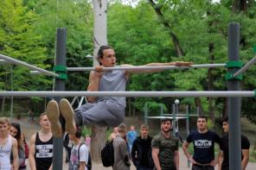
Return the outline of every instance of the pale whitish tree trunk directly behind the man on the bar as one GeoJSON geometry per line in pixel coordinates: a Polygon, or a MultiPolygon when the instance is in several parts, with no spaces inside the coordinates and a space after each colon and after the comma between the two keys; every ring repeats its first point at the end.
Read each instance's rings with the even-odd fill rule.
{"type": "MultiPolygon", "coordinates": [[[[99,47],[107,45],[106,39],[106,11],[107,1],[106,0],[93,0],[93,11],[94,11],[94,49],[93,49],[93,66],[99,65],[96,60],[97,52],[99,47]]],[[[106,142],[106,127],[92,126],[92,144],[91,154],[93,161],[100,162],[101,148],[106,142]]]]}

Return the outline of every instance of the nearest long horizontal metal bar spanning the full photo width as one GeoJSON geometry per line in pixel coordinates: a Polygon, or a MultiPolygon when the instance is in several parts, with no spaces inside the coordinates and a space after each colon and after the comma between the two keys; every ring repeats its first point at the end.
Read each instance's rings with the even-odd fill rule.
{"type": "Polygon", "coordinates": [[[0,91],[0,96],[26,97],[255,97],[256,91],[0,91]]]}

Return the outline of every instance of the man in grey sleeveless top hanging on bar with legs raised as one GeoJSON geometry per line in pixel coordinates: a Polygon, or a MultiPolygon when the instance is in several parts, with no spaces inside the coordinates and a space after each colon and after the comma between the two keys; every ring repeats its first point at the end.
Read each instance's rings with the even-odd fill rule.
{"type": "MultiPolygon", "coordinates": [[[[97,54],[97,60],[99,65],[95,67],[95,71],[90,72],[89,85],[87,91],[125,91],[127,80],[132,73],[143,73],[143,72],[160,72],[161,70],[112,70],[103,71],[104,67],[128,67],[132,65],[120,65],[116,66],[117,58],[115,51],[112,47],[101,46],[97,54]]],[[[192,62],[167,62],[167,63],[150,63],[146,66],[189,66],[192,62]]],[[[50,114],[56,115],[49,117],[54,129],[60,129],[59,122],[59,107],[61,115],[66,120],[66,131],[68,134],[74,134],[75,127],[73,121],[77,126],[83,124],[96,124],[98,126],[116,127],[119,123],[123,123],[125,119],[125,97],[89,97],[88,104],[81,105],[78,109],[73,110],[71,104],[67,99],[63,98],[58,104],[52,100],[48,103],[48,110],[50,114]]],[[[55,130],[56,131],[56,130],[55,130]]],[[[61,136],[61,130],[56,131],[54,136],[61,136]]]]}

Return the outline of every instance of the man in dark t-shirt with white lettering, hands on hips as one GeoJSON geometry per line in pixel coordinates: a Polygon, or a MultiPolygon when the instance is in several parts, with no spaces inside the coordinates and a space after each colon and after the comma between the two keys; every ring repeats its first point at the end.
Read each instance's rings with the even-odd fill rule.
{"type": "Polygon", "coordinates": [[[192,170],[214,170],[214,166],[218,163],[218,158],[214,159],[214,143],[220,145],[221,138],[213,131],[207,128],[207,117],[199,116],[197,118],[197,130],[191,132],[183,143],[184,154],[188,157],[189,161],[193,164],[192,170]],[[193,157],[189,154],[189,143],[194,144],[193,157]]]}

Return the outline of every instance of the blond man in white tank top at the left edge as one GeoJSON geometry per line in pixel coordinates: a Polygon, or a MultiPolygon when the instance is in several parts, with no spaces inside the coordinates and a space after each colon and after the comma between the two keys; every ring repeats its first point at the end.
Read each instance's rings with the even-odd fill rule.
{"type": "Polygon", "coordinates": [[[9,134],[10,120],[7,117],[0,117],[0,169],[18,170],[18,144],[14,137],[9,134]],[[10,154],[13,155],[13,162],[10,162],[10,154]]]}

